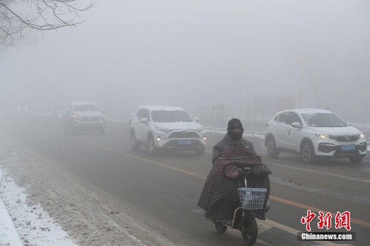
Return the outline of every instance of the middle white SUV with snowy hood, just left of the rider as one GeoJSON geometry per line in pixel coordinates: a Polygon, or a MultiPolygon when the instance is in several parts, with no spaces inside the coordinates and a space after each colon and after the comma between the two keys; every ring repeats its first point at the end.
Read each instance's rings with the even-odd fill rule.
{"type": "Polygon", "coordinates": [[[151,155],[160,149],[194,150],[204,154],[206,132],[197,119],[180,107],[140,106],[130,126],[131,148],[149,148],[151,155]]]}

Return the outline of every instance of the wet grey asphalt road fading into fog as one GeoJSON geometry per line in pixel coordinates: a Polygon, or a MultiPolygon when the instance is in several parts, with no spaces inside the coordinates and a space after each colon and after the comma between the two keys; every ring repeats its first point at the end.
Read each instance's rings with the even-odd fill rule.
{"type": "MultiPolygon", "coordinates": [[[[116,200],[129,204],[140,216],[156,221],[163,228],[171,228],[194,245],[243,245],[240,232],[229,229],[225,234],[217,234],[197,207],[211,167],[212,146],[223,135],[208,133],[204,156],[175,152],[153,157],[143,147],[132,152],[125,122],[108,122],[106,135],[64,134],[58,121],[3,126],[21,146],[68,169],[116,200]]],[[[269,159],[261,139],[249,140],[273,172],[271,210],[267,221],[258,221],[256,245],[317,245],[312,241],[297,241],[296,232],[306,231],[301,217],[306,216],[307,210],[316,214],[349,211],[351,232],[356,232],[356,241],[341,243],[367,245],[370,238],[369,156],[357,165],[347,159],[306,165],[300,156],[290,154],[269,159]]],[[[326,232],[325,228],[318,229],[316,223],[311,223],[312,232],[326,232]]],[[[334,221],[332,223],[330,232],[346,232],[343,228],[336,230],[334,221]]],[[[334,241],[320,243],[330,245],[334,241]]]]}

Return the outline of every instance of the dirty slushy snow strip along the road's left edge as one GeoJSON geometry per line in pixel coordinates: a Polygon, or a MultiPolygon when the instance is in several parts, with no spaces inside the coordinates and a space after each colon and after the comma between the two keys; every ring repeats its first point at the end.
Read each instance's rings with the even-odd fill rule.
{"type": "Polygon", "coordinates": [[[0,199],[23,245],[186,245],[168,228],[148,223],[138,211],[16,143],[0,141],[0,170],[0,199]]]}

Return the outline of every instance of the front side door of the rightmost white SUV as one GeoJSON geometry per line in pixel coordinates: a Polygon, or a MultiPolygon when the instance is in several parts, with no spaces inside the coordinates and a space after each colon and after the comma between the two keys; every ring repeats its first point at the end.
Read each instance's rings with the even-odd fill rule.
{"type": "Polygon", "coordinates": [[[302,126],[301,118],[299,118],[299,115],[297,113],[291,112],[288,115],[288,132],[286,136],[286,148],[288,150],[293,150],[296,152],[299,152],[300,144],[301,144],[301,131],[302,128],[293,127],[293,122],[298,122],[302,126]]]}

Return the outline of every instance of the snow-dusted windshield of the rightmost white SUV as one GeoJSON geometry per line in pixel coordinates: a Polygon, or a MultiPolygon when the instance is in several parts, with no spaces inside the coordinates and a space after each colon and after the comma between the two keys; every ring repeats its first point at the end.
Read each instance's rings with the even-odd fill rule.
{"type": "Polygon", "coordinates": [[[302,113],[306,124],[313,127],[343,127],[347,126],[335,113],[302,113]]]}

